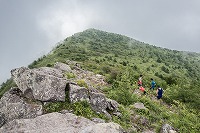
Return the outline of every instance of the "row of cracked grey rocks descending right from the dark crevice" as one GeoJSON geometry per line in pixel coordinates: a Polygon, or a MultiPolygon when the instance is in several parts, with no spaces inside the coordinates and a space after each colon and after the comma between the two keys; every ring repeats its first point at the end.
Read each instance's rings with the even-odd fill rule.
{"type": "Polygon", "coordinates": [[[97,113],[104,113],[108,118],[111,118],[111,115],[107,112],[110,110],[115,115],[120,116],[118,112],[119,104],[111,99],[107,99],[103,93],[91,92],[90,90],[80,87],[75,83],[69,83],[69,100],[71,103],[78,101],[88,101],[94,111],[97,113]]]}

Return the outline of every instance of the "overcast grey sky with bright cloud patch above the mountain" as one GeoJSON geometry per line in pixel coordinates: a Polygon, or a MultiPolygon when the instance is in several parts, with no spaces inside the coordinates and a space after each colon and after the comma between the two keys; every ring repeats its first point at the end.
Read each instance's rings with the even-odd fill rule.
{"type": "Polygon", "coordinates": [[[199,0],[0,0],[0,84],[88,28],[200,53],[199,0]]]}

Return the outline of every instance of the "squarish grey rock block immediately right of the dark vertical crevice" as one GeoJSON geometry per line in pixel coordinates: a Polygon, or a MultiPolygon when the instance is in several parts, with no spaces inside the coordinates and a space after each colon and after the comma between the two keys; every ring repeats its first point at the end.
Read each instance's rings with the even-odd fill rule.
{"type": "Polygon", "coordinates": [[[76,84],[69,83],[69,100],[71,103],[83,100],[89,102],[88,90],[76,84]]]}

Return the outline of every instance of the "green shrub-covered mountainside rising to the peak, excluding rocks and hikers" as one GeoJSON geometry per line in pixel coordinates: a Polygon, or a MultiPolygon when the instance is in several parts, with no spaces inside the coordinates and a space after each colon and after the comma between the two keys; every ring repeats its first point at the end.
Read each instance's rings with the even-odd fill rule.
{"type": "MultiPolygon", "coordinates": [[[[180,132],[200,130],[200,54],[163,49],[123,35],[88,29],[66,38],[48,55],[33,61],[29,68],[51,67],[55,62],[67,60],[77,61],[83,69],[106,76],[110,86],[101,88],[102,91],[128,110],[126,118],[113,118],[123,127],[128,128],[132,123],[132,104],[141,101],[149,111],[134,112],[148,118],[150,123],[146,128],[158,129],[168,122],[180,132]],[[164,105],[152,101],[155,92],[148,91],[142,97],[133,94],[140,74],[147,90],[150,78],[163,87],[164,105]]],[[[4,83],[0,95],[11,85],[14,85],[11,80],[4,83]]]]}

